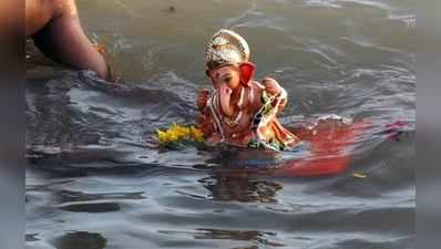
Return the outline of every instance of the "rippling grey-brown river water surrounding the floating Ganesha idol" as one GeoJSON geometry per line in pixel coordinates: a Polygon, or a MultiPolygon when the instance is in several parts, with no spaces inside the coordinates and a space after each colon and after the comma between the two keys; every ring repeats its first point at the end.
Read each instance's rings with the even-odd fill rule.
{"type": "Polygon", "coordinates": [[[27,248],[416,248],[416,1],[78,4],[124,83],[28,44],[27,248]],[[371,122],[343,172],[228,174],[215,152],[155,146],[155,128],[193,123],[209,86],[204,43],[219,28],[247,39],[257,79],[286,87],[284,124],[371,122]],[[396,122],[390,138],[381,131],[396,122]]]}

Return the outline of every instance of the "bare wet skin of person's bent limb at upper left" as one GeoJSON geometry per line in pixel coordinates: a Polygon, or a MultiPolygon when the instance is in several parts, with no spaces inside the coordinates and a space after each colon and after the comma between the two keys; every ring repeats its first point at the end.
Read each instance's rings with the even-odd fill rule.
{"type": "Polygon", "coordinates": [[[74,0],[25,0],[24,27],[47,56],[109,80],[107,64],[85,35],[74,0]]]}

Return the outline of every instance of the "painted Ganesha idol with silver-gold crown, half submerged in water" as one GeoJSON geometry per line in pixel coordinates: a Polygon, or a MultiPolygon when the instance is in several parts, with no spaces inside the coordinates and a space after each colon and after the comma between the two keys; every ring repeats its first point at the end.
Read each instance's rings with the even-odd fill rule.
{"type": "Polygon", "coordinates": [[[208,144],[287,151],[301,143],[277,118],[287,92],[274,79],[254,80],[255,65],[244,38],[219,30],[208,41],[205,59],[214,90],[197,94],[196,126],[208,144]]]}

